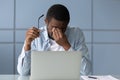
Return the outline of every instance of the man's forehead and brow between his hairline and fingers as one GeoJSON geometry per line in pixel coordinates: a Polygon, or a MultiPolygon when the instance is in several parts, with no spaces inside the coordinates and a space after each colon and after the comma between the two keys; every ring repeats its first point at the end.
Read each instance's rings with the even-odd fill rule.
{"type": "Polygon", "coordinates": [[[49,22],[51,27],[58,27],[58,28],[66,28],[67,27],[67,22],[66,21],[59,21],[56,20],[55,18],[52,18],[49,22]]]}

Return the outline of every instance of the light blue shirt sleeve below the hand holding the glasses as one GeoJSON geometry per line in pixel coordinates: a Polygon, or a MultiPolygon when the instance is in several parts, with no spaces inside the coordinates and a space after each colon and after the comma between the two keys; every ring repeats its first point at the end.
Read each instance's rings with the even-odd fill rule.
{"type": "Polygon", "coordinates": [[[31,51],[25,51],[24,46],[18,57],[17,71],[20,75],[30,75],[31,51]]]}

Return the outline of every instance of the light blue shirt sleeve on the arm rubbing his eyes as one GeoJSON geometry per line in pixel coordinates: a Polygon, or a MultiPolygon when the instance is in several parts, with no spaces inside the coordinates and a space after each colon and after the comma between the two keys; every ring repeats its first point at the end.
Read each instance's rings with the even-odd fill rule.
{"type": "Polygon", "coordinates": [[[78,35],[76,36],[74,43],[72,43],[72,47],[68,51],[80,51],[82,53],[82,61],[81,61],[81,69],[80,74],[81,75],[90,75],[92,70],[92,65],[90,61],[90,57],[88,54],[88,48],[85,44],[85,38],[83,35],[83,32],[76,28],[75,33],[77,32],[78,35]]]}

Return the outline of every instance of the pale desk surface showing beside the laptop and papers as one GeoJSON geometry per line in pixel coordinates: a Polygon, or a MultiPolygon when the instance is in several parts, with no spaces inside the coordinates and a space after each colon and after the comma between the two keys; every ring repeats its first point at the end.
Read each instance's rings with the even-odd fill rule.
{"type": "MultiPolygon", "coordinates": [[[[120,76],[115,76],[120,79],[120,76]]],[[[30,80],[30,76],[19,76],[19,75],[0,75],[0,80],[30,80]]]]}

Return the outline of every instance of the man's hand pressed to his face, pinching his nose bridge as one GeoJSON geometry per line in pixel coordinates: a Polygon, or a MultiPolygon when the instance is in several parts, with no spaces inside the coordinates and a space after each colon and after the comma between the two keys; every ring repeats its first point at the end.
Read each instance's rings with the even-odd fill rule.
{"type": "Polygon", "coordinates": [[[52,29],[52,37],[54,40],[61,45],[65,50],[68,50],[71,45],[67,40],[66,35],[58,28],[53,28],[52,29]]]}

